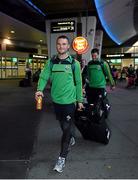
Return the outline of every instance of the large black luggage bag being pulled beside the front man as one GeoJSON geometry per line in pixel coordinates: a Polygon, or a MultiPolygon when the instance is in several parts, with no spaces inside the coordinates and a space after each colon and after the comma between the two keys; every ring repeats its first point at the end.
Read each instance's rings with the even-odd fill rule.
{"type": "Polygon", "coordinates": [[[83,111],[76,111],[75,113],[76,127],[84,139],[108,144],[111,131],[105,121],[103,109],[100,109],[100,106],[91,107],[88,104],[84,106],[85,109],[83,111]]]}

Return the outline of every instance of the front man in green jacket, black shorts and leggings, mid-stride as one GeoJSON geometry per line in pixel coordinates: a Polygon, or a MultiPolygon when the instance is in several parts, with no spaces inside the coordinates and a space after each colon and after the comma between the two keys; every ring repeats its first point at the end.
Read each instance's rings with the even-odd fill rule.
{"type": "Polygon", "coordinates": [[[59,120],[63,135],[61,139],[61,151],[54,170],[63,171],[65,160],[74,139],[74,112],[76,103],[78,108],[83,108],[82,78],[80,63],[74,60],[68,53],[69,39],[59,36],[56,41],[58,55],[48,61],[40,74],[35,98],[43,96],[43,90],[48,79],[51,79],[51,97],[54,104],[56,118],[59,120]],[[73,61],[74,60],[74,61],[73,61]]]}

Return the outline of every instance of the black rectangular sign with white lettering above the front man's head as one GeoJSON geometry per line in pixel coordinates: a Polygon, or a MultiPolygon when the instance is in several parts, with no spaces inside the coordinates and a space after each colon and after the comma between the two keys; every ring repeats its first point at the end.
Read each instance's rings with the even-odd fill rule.
{"type": "Polygon", "coordinates": [[[75,32],[75,21],[51,22],[51,33],[75,32]]]}

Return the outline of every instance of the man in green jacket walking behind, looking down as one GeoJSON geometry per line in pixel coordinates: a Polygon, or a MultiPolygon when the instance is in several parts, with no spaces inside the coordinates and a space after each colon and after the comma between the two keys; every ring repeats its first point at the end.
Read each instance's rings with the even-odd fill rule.
{"type": "Polygon", "coordinates": [[[98,58],[99,50],[92,49],[92,60],[89,61],[87,66],[87,100],[89,104],[94,104],[99,95],[105,97],[106,77],[109,79],[110,85],[114,88],[115,82],[113,80],[110,67],[107,62],[98,58]]]}

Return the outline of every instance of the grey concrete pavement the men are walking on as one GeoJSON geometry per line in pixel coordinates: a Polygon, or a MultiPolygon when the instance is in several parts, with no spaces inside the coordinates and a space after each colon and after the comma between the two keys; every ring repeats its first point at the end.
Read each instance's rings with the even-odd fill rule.
{"type": "Polygon", "coordinates": [[[52,169],[59,154],[61,130],[49,95],[45,94],[43,110],[36,112],[34,86],[20,88],[16,81],[3,81],[0,86],[0,178],[138,178],[138,88],[128,90],[119,83],[109,92],[109,144],[86,141],[76,130],[76,144],[59,174],[52,169]],[[10,173],[11,167],[14,173],[10,173]]]}

